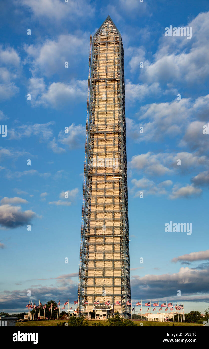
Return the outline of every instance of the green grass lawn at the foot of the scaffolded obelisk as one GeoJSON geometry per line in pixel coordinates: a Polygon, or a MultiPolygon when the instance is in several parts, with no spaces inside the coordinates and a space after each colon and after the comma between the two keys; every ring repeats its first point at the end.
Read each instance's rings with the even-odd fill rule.
{"type": "MultiPolygon", "coordinates": [[[[45,327],[45,326],[56,326],[57,322],[62,322],[64,320],[51,320],[51,321],[26,321],[26,322],[16,322],[15,326],[18,327],[22,327],[22,326],[26,326],[26,327],[31,327],[31,326],[40,326],[40,327],[45,327]]],[[[66,321],[66,320],[65,320],[66,321]]],[[[92,324],[95,321],[88,321],[89,326],[92,326],[92,324]]],[[[98,322],[98,321],[96,321],[98,322]]],[[[101,321],[103,323],[103,325],[106,325],[107,321],[101,321]]],[[[140,322],[141,321],[134,321],[137,326],[140,326],[140,322]]],[[[172,326],[172,322],[155,322],[155,321],[143,321],[143,325],[144,326],[172,326]]],[[[196,326],[203,326],[202,324],[190,324],[188,322],[175,322],[175,327],[196,327],[196,326]]]]}

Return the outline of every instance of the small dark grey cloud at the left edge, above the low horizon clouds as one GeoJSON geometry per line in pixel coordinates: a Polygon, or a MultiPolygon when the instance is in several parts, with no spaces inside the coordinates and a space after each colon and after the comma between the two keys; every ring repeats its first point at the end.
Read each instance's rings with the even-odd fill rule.
{"type": "Polygon", "coordinates": [[[0,225],[3,228],[18,228],[30,224],[32,218],[37,217],[32,210],[21,211],[20,206],[1,205],[0,225]]]}

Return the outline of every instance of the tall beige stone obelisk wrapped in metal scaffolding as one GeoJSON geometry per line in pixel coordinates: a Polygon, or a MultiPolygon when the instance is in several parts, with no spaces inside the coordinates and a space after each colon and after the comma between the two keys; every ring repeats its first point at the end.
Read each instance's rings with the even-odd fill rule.
{"type": "Polygon", "coordinates": [[[106,317],[130,318],[124,58],[110,16],[90,52],[77,314],[95,318],[99,300],[106,317]]]}

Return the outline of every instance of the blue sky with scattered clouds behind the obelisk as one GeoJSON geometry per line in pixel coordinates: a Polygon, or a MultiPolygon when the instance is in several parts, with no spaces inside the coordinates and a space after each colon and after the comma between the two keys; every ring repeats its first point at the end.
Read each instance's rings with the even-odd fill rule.
{"type": "Polygon", "coordinates": [[[208,10],[204,0],[1,3],[1,310],[24,311],[27,290],[77,299],[89,39],[108,15],[124,46],[132,301],[208,307],[208,10]],[[166,37],[170,25],[192,38],[166,37]],[[192,234],[165,232],[170,221],[192,234]]]}

